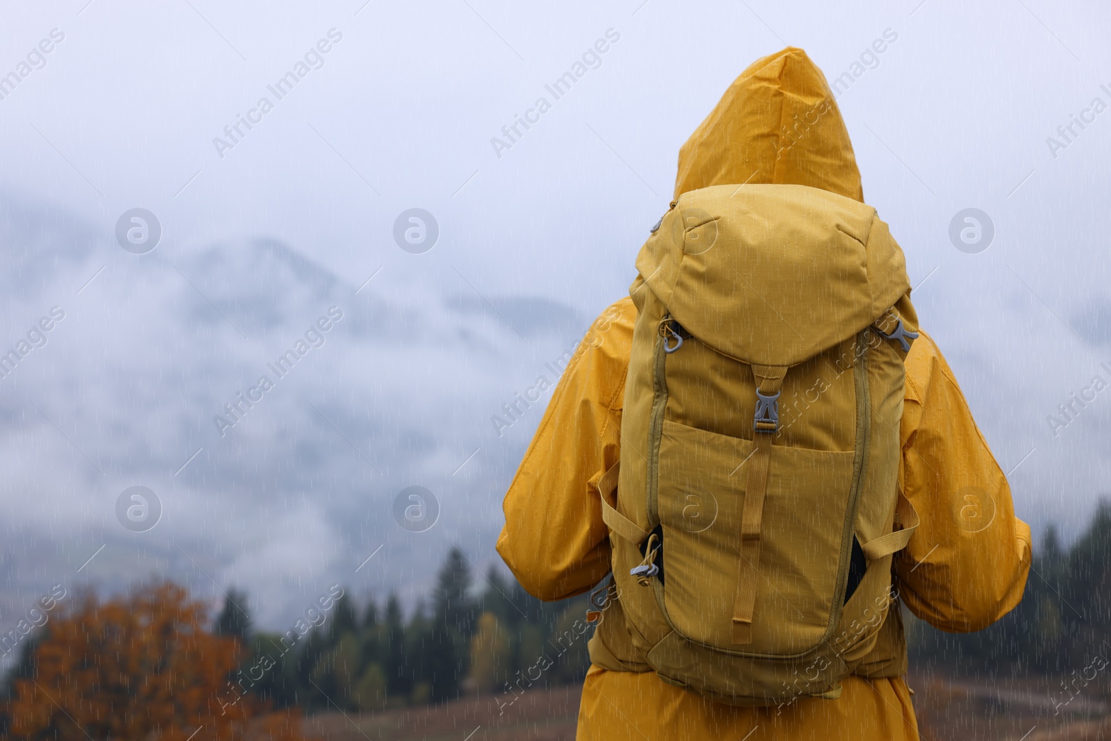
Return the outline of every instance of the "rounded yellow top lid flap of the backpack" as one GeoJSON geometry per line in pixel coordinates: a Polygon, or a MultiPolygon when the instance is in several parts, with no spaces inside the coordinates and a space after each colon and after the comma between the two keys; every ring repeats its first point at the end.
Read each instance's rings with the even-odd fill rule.
{"type": "Polygon", "coordinates": [[[687,331],[747,363],[794,366],[878,320],[910,290],[875,209],[817,188],[683,193],[637,270],[687,331]]]}

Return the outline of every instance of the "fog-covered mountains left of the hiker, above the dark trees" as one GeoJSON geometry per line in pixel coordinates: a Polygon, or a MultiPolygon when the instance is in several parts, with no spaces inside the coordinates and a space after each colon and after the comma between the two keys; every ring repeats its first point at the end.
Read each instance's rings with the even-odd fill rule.
{"type": "Polygon", "coordinates": [[[53,583],[162,573],[216,597],[247,587],[280,627],[328,583],[411,599],[451,543],[491,552],[531,427],[499,439],[489,417],[573,348],[580,312],[452,274],[366,282],[273,239],[136,256],[101,231],[0,200],[0,342],[64,314],[0,381],[0,627],[53,583]],[[117,519],[137,484],[162,505],[147,532],[117,519]],[[411,484],[440,500],[428,532],[393,519],[411,484]]]}

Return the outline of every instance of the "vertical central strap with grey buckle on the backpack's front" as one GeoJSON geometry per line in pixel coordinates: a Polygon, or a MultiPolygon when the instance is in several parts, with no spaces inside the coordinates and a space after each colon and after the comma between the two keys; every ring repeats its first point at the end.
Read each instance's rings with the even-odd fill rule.
{"type": "MultiPolygon", "coordinates": [[[[775,399],[787,375],[787,366],[752,366],[758,382],[758,399],[775,399]]],[[[771,403],[775,403],[772,401],[771,403]]],[[[757,424],[752,432],[753,451],[749,457],[749,474],[744,487],[744,507],[741,510],[741,558],[738,565],[737,592],[733,594],[733,643],[752,642],[752,613],[757,603],[757,578],[760,575],[760,531],[763,522],[764,494],[768,492],[768,464],[771,441],[778,424],[770,425],[761,419],[757,408],[757,424]]],[[[778,412],[773,412],[778,422],[778,412]]]]}

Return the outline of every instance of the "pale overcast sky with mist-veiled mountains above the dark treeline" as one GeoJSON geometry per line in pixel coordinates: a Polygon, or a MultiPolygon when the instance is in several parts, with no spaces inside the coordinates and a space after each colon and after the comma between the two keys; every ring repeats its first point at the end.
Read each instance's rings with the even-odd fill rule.
{"type": "Polygon", "coordinates": [[[0,629],[53,583],[239,585],[282,628],[334,582],[411,603],[452,543],[486,570],[542,409],[490,417],[625,293],[680,144],[788,44],[851,77],[865,199],[1019,515],[1074,534],[1109,491],[1111,389],[1048,418],[1111,382],[1109,31],[1047,0],[6,8],[0,351],[44,344],[0,379],[0,629]],[[136,208],[144,254],[116,234],[136,208]],[[423,253],[394,239],[412,208],[423,253]],[[968,208],[994,227],[975,253],[950,240],[968,208]],[[213,421],[240,392],[262,400],[213,421]],[[136,485],[162,509],[146,532],[117,517],[136,485]],[[412,485],[439,502],[424,532],[394,519],[412,485]]]}

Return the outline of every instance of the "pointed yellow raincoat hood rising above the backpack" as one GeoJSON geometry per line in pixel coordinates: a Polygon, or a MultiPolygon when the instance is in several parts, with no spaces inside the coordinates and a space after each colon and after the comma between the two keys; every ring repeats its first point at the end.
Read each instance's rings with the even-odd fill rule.
{"type": "Polygon", "coordinates": [[[810,186],[864,200],[833,92],[802,49],[750,64],[679,150],[677,199],[727,183],[810,186]]]}

